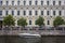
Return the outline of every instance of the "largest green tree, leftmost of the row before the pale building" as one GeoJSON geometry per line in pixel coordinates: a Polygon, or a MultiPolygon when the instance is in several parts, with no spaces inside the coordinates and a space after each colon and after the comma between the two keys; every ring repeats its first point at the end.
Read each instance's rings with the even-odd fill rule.
{"type": "Polygon", "coordinates": [[[15,25],[15,19],[13,18],[12,15],[6,15],[5,17],[3,17],[3,25],[5,26],[15,25]]]}

